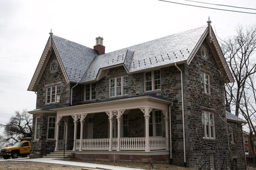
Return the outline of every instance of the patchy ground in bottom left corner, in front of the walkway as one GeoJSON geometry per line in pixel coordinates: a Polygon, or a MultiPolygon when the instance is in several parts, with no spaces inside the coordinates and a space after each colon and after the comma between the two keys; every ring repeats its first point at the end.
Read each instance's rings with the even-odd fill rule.
{"type": "Polygon", "coordinates": [[[0,161],[0,170],[81,170],[81,168],[25,161],[0,161]]]}

